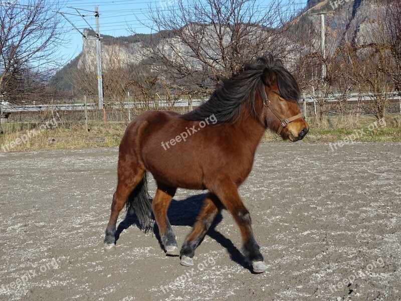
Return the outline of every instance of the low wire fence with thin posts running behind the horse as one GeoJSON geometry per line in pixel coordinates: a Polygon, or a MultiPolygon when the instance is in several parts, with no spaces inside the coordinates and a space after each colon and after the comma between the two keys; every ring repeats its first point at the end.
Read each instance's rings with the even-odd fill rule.
{"type": "MultiPolygon", "coordinates": [[[[94,104],[94,103],[93,103],[94,104]]],[[[146,107],[138,105],[132,106],[108,106],[105,109],[95,108],[95,106],[82,109],[65,109],[63,105],[48,106],[47,109],[41,111],[21,110],[11,112],[2,118],[3,129],[13,131],[21,127],[21,124],[31,124],[32,127],[46,123],[48,120],[56,120],[59,126],[104,126],[107,124],[128,124],[135,116],[148,110],[149,108],[157,108],[158,110],[173,110],[183,114],[195,108],[196,103],[191,106],[160,106],[159,102],[154,104],[148,103],[146,107]],[[64,109],[63,109],[64,108],[64,109]]],[[[300,102],[300,108],[306,119],[311,125],[322,127],[361,127],[365,123],[369,123],[376,118],[374,106],[372,102],[346,101],[339,103],[325,103],[319,105],[316,102],[306,102],[303,106],[300,102]]],[[[389,101],[386,106],[385,113],[386,122],[390,126],[401,126],[401,104],[398,101],[389,101]],[[388,119],[388,121],[387,121],[388,119]]]]}

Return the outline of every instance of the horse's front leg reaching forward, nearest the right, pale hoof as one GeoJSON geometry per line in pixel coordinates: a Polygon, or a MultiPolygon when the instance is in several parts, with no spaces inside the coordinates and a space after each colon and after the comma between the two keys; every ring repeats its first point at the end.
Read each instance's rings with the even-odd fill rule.
{"type": "Polygon", "coordinates": [[[259,245],[252,232],[251,215],[238,194],[237,186],[228,177],[220,177],[212,183],[211,191],[216,193],[238,224],[243,242],[242,252],[245,258],[252,264],[255,272],[264,272],[268,266],[263,261],[263,256],[259,251],[259,245]]]}

